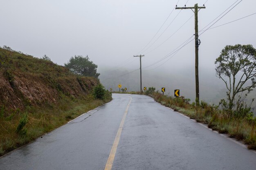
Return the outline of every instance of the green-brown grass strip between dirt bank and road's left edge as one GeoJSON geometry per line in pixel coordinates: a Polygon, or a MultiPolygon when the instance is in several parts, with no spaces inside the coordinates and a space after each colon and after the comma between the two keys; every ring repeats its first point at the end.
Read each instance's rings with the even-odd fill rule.
{"type": "Polygon", "coordinates": [[[110,98],[100,100],[88,95],[80,99],[65,98],[54,106],[30,107],[22,112],[6,111],[0,117],[0,156],[108,101],[110,98]]]}

